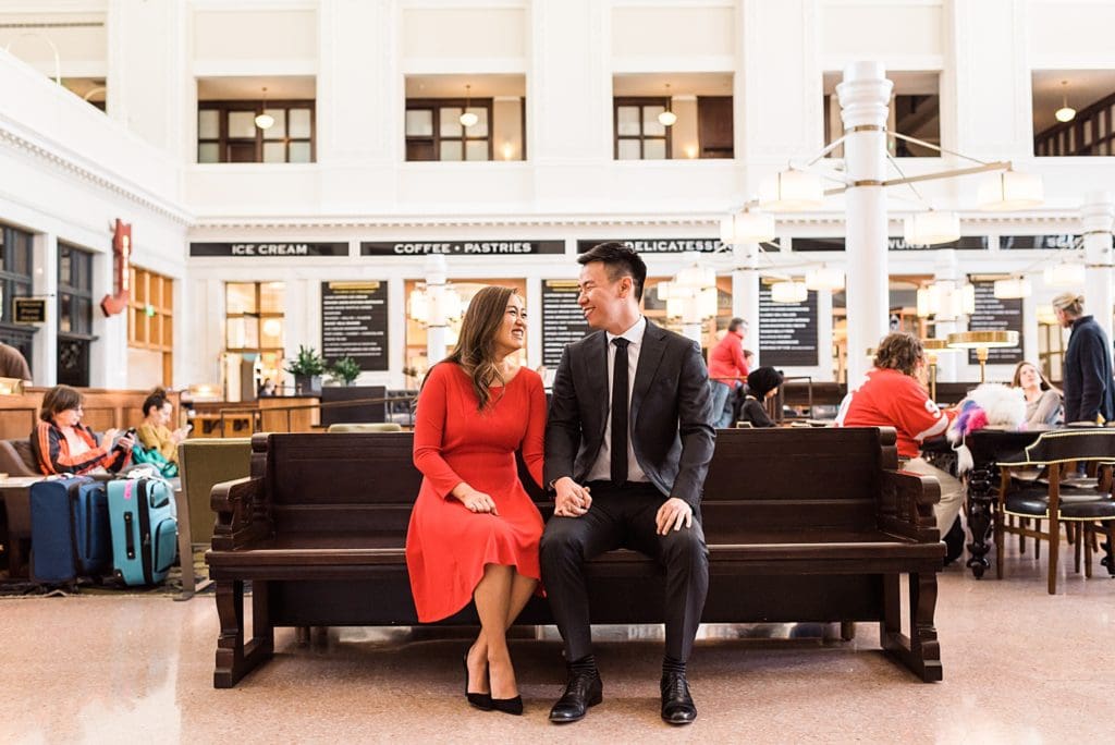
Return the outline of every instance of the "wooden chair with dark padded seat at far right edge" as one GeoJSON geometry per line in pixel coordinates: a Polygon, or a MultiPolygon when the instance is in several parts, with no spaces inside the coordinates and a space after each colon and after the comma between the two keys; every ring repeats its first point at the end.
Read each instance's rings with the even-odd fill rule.
{"type": "MultiPolygon", "coordinates": [[[[1021,453],[1000,461],[1001,482],[999,486],[999,509],[995,515],[996,573],[1002,579],[1004,538],[1006,533],[1049,541],[1048,589],[1057,592],[1057,559],[1060,543],[1060,526],[1083,528],[1096,522],[1112,525],[1115,521],[1115,495],[1112,493],[1109,472],[1115,459],[1115,432],[1105,429],[1053,430],[1044,433],[1021,453]],[[1098,485],[1072,486],[1066,476],[1075,476],[1075,462],[1097,463],[1101,474],[1098,485]],[[1025,468],[1046,467],[1048,478],[1029,485],[1012,480],[1012,474],[1025,468]],[[1106,486],[1106,488],[1101,488],[1106,486]],[[1014,517],[1018,517],[1016,525],[1014,517]],[[1029,520],[1035,528],[1029,528],[1029,520]],[[1043,530],[1043,521],[1048,529],[1043,530]]],[[[1076,571],[1079,571],[1079,553],[1086,555],[1085,575],[1092,577],[1092,542],[1076,534],[1076,571]],[[1082,544],[1085,544],[1082,549],[1082,544]]],[[[1109,531],[1108,531],[1109,533],[1109,531]]]]}

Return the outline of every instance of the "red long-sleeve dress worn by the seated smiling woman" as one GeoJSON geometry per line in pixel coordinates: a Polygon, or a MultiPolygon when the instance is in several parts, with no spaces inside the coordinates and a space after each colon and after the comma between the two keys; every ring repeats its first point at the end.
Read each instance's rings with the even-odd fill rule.
{"type": "Polygon", "coordinates": [[[536,373],[521,368],[476,409],[472,379],[458,365],[430,370],[415,418],[415,466],[421,491],[407,530],[407,570],[418,620],[453,616],[473,598],[485,564],[542,578],[542,515],[518,481],[515,451],[542,483],[546,396],[536,373]],[[460,482],[495,501],[498,515],[473,513],[449,494],[460,482]]]}

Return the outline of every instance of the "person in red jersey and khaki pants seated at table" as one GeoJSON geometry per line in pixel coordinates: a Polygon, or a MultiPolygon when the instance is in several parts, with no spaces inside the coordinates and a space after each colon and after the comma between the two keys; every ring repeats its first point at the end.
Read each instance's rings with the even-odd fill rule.
{"type": "Polygon", "coordinates": [[[921,341],[901,331],[888,335],[875,352],[867,379],[844,397],[837,427],[894,427],[899,464],[905,471],[935,476],[941,501],[934,507],[937,529],[943,538],[960,512],[963,486],[952,474],[921,457],[921,443],[944,435],[954,410],[942,412],[919,383],[925,370],[921,341]]]}

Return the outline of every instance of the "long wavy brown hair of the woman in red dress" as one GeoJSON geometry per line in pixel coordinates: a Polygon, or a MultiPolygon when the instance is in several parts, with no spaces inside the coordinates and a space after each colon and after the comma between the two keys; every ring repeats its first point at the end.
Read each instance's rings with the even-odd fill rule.
{"type": "Polygon", "coordinates": [[[492,386],[506,383],[495,364],[495,339],[507,313],[507,302],[515,293],[515,288],[492,286],[473,296],[460,321],[457,346],[445,358],[446,362],[459,365],[473,379],[481,412],[492,400],[492,386]]]}

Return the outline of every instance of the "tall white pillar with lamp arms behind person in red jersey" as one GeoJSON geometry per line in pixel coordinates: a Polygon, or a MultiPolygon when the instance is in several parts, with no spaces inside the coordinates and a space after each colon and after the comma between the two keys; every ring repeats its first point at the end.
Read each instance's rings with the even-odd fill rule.
{"type": "Polygon", "coordinates": [[[847,383],[856,386],[871,367],[867,349],[889,328],[886,272],[886,114],[893,85],[881,62],[853,62],[836,86],[844,119],[849,188],[846,245],[847,383]]]}

